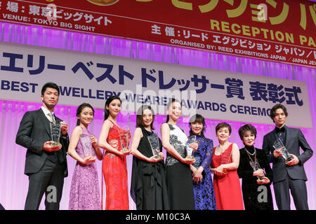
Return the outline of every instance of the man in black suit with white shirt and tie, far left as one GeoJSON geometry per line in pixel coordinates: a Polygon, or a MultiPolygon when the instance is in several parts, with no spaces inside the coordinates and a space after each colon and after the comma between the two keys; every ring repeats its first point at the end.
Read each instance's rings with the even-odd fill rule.
{"type": "Polygon", "coordinates": [[[67,123],[54,114],[60,90],[55,83],[46,83],[41,90],[43,106],[37,111],[28,111],[23,116],[15,143],[27,148],[25,174],[29,176],[29,189],[25,202],[26,210],[39,209],[41,198],[46,194],[45,207],[58,210],[62,186],[67,176],[67,148],[69,137],[67,123]],[[60,122],[60,146],[51,146],[50,123],[60,122]]]}

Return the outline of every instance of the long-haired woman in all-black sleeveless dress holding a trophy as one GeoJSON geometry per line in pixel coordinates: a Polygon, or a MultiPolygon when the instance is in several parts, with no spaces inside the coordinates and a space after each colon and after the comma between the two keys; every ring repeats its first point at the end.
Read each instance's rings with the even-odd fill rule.
{"type": "Polygon", "coordinates": [[[152,108],[147,105],[140,106],[136,116],[137,128],[131,143],[133,154],[131,197],[136,203],[137,210],[169,209],[162,141],[157,133],[152,132],[153,121],[152,108]]]}

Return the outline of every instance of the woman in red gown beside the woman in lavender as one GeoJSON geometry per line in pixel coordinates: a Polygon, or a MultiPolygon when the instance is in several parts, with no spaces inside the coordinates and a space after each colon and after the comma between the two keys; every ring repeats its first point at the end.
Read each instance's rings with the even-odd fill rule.
{"type": "MultiPolygon", "coordinates": [[[[126,138],[126,130],[117,125],[117,115],[120,111],[121,99],[109,97],[105,102],[105,121],[99,137],[99,146],[105,149],[102,163],[106,188],[105,210],[129,210],[126,155],[129,155],[131,150],[121,146],[121,140],[126,138]]],[[[129,139],[130,135],[129,133],[129,139]]]]}

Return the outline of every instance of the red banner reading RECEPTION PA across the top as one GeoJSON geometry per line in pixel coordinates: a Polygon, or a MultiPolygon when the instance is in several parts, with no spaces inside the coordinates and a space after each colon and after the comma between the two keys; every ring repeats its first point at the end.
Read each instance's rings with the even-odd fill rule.
{"type": "Polygon", "coordinates": [[[0,20],[316,68],[305,0],[0,0],[0,20]]]}

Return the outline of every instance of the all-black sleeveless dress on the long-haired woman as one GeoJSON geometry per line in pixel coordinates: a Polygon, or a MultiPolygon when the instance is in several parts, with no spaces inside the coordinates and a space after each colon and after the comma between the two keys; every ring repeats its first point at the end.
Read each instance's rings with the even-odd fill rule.
{"type": "MultiPolygon", "coordinates": [[[[154,134],[154,132],[149,132],[143,127],[140,127],[140,129],[143,132],[143,138],[140,139],[138,151],[147,158],[151,158],[154,154],[147,137],[154,134]]],[[[160,139],[159,151],[162,151],[162,141],[160,139]]],[[[137,210],[169,209],[164,160],[147,162],[133,156],[131,197],[136,203],[137,210]]]]}

